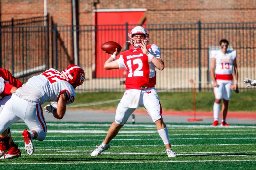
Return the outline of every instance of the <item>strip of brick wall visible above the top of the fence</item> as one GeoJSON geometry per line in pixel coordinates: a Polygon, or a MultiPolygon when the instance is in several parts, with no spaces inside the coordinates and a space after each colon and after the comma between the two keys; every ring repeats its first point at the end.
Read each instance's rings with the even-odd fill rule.
{"type": "MultiPolygon", "coordinates": [[[[94,24],[93,2],[79,0],[80,24],[94,24]]],[[[148,23],[253,22],[256,1],[251,0],[100,0],[97,9],[147,8],[148,23]]],[[[71,0],[47,0],[47,12],[58,25],[72,23],[71,0]]],[[[1,21],[44,15],[44,1],[1,0],[1,21]]]]}

